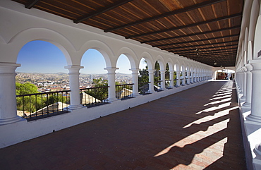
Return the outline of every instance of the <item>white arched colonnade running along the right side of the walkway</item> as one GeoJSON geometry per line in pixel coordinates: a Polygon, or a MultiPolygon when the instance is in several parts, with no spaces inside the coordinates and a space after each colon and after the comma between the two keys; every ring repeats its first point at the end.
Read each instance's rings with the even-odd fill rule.
{"type": "Polygon", "coordinates": [[[236,58],[236,87],[241,107],[245,152],[250,169],[261,169],[261,1],[245,1],[236,58]],[[250,151],[249,151],[250,150],[250,151]]]}

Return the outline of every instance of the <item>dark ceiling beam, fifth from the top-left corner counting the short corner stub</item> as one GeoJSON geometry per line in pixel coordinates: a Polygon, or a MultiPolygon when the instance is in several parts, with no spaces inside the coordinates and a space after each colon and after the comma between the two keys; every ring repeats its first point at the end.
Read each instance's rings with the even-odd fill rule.
{"type": "Polygon", "coordinates": [[[233,27],[230,27],[230,28],[223,28],[223,29],[219,29],[219,30],[210,30],[210,31],[206,31],[206,32],[198,32],[198,33],[193,33],[193,34],[189,34],[189,35],[168,37],[168,38],[162,38],[162,39],[157,39],[157,40],[148,40],[148,41],[144,41],[144,42],[140,42],[140,43],[159,42],[159,41],[164,41],[164,40],[171,40],[171,39],[174,39],[174,38],[190,37],[190,36],[195,36],[195,35],[205,35],[205,34],[210,34],[210,33],[213,33],[213,32],[219,32],[219,31],[224,31],[224,30],[233,30],[233,29],[236,29],[236,28],[241,28],[241,25],[233,26],[233,27]]]}

